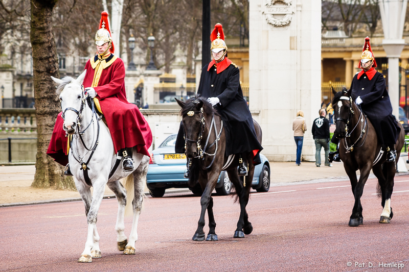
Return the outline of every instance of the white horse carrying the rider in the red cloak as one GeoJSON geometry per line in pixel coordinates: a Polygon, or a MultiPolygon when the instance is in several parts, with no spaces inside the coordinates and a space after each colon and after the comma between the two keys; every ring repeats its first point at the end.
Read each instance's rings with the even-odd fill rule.
{"type": "Polygon", "coordinates": [[[63,112],[63,129],[72,137],[69,153],[71,172],[77,190],[84,202],[88,222],[85,249],[78,261],[92,262],[92,258],[101,258],[102,256],[96,223],[106,184],[118,199],[118,217],[115,226],[118,249],[126,255],[135,254],[135,241],[138,240],[138,219],[141,214],[149,157],[137,153],[134,149],[132,158],[135,170],[133,172],[124,172],[121,165],[119,165],[118,169],[109,178],[111,168],[117,160],[117,155],[114,153],[112,138],[107,126],[98,118],[98,115],[94,113],[85,100],[86,95],[82,86],[85,72],[76,80],[71,77],[63,79],[51,78],[59,84],[57,95],[59,95],[63,112]],[[91,194],[90,186],[86,183],[86,178],[84,178],[84,175],[86,175],[84,165],[80,163],[85,163],[89,181],[94,187],[93,194],[91,194]],[[126,189],[119,182],[120,179],[125,177],[127,177],[125,181],[126,189]],[[124,234],[124,214],[127,199],[128,201],[129,199],[132,200],[131,197],[133,197],[133,223],[128,241],[124,234]]]}

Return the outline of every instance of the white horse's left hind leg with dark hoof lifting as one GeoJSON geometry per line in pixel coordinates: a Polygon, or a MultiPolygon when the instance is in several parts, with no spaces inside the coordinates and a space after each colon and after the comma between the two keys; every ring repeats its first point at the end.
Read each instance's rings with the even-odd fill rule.
{"type": "Polygon", "coordinates": [[[115,193],[118,199],[118,216],[117,216],[117,224],[115,225],[115,230],[117,231],[118,250],[124,251],[125,245],[128,242],[128,240],[126,239],[126,235],[124,233],[126,190],[119,181],[108,182],[108,187],[109,189],[112,190],[113,193],[115,193]]]}

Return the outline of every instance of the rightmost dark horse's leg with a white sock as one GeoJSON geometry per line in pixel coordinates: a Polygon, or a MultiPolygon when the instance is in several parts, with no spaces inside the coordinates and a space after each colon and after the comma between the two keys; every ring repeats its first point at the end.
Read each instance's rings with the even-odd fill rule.
{"type": "Polygon", "coordinates": [[[382,190],[382,213],[380,215],[379,223],[381,224],[389,224],[393,217],[393,212],[391,208],[391,197],[393,192],[394,186],[394,178],[396,172],[396,165],[395,162],[385,163],[383,165],[384,175],[386,177],[386,181],[384,186],[381,186],[382,190]]]}

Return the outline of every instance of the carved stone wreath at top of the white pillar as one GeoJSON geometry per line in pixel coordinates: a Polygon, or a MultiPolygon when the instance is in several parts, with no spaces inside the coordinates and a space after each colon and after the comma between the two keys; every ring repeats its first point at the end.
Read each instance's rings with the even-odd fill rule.
{"type": "Polygon", "coordinates": [[[285,27],[290,24],[292,19],[292,0],[271,0],[270,4],[265,4],[263,11],[266,14],[267,22],[274,27],[285,27]],[[283,3],[284,5],[278,6],[275,5],[277,2],[283,3]],[[282,14],[284,18],[278,19],[274,17],[275,14],[282,14]]]}

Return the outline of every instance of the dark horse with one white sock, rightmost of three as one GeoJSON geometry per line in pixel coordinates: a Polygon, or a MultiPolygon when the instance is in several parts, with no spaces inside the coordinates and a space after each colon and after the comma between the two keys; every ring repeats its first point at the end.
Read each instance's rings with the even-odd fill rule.
{"type": "Polygon", "coordinates": [[[388,152],[381,150],[375,129],[371,121],[351,98],[351,90],[344,89],[337,93],[332,88],[332,92],[334,93],[332,108],[336,120],[334,135],[340,139],[339,156],[344,162],[344,168],[351,181],[352,192],[355,197],[355,204],[348,225],[357,227],[363,224],[360,198],[371,169],[378,178],[378,193],[382,197],[383,211],[379,223],[390,223],[393,216],[391,196],[396,162],[399,160],[400,151],[404,144],[403,127],[399,123],[401,130],[396,143],[396,162],[388,163],[388,152]],[[360,172],[359,181],[356,177],[356,170],[358,169],[360,172]]]}

